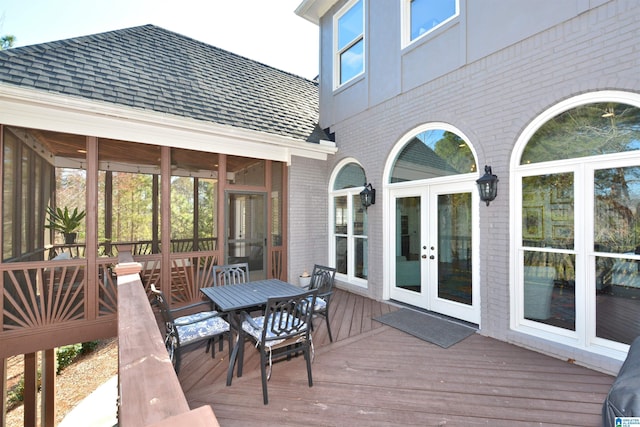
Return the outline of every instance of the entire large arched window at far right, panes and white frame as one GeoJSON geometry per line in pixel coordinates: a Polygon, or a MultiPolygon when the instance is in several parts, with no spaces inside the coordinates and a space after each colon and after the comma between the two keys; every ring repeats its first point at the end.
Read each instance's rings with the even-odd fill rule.
{"type": "Polygon", "coordinates": [[[523,330],[617,350],[640,335],[640,97],[610,94],[569,100],[523,134],[513,300],[523,330]]]}

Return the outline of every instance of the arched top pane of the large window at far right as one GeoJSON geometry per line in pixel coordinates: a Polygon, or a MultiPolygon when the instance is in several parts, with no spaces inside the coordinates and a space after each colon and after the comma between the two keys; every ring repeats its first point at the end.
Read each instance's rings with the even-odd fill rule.
{"type": "Polygon", "coordinates": [[[536,131],[521,164],[596,156],[640,149],[640,109],[594,103],[565,111],[536,131]]]}

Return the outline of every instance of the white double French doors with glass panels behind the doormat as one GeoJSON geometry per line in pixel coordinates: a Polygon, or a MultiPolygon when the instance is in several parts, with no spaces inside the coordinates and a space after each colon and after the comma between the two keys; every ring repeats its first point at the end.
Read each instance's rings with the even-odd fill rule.
{"type": "Polygon", "coordinates": [[[473,182],[391,190],[391,299],[480,322],[475,191],[473,182]]]}

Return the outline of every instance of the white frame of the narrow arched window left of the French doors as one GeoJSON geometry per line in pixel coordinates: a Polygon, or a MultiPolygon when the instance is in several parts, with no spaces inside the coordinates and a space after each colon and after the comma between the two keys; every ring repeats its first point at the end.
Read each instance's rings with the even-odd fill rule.
{"type": "MultiPolygon", "coordinates": [[[[354,196],[356,200],[359,200],[359,195],[362,190],[364,190],[364,183],[360,187],[353,188],[345,188],[342,190],[334,190],[333,187],[335,185],[335,180],[338,177],[338,174],[346,165],[354,163],[360,166],[363,170],[364,167],[353,158],[343,159],[340,163],[338,163],[329,179],[329,265],[331,267],[336,267],[336,236],[345,236],[347,238],[347,274],[336,272],[336,278],[338,278],[342,282],[350,283],[352,285],[367,288],[368,280],[362,279],[360,277],[356,277],[354,275],[355,270],[355,239],[365,239],[369,240],[369,229],[367,228],[367,234],[365,235],[354,235],[353,234],[353,199],[354,196]],[[344,235],[342,233],[335,232],[335,198],[340,196],[347,197],[347,234],[344,235]]],[[[367,245],[367,250],[368,250],[367,245]]],[[[369,261],[369,257],[367,256],[366,261],[369,261]]],[[[367,271],[369,271],[369,266],[366,266],[367,271]]],[[[367,275],[368,276],[368,275],[367,275]]]]}

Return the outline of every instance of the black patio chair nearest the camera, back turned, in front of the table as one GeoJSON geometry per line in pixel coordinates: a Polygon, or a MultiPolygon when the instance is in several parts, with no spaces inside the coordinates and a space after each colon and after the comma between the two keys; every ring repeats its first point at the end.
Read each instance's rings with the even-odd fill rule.
{"type": "Polygon", "coordinates": [[[312,290],[296,295],[269,298],[264,316],[251,317],[246,312],[243,313],[244,321],[240,333],[242,340],[246,335],[253,339],[260,352],[262,396],[265,405],[269,403],[267,381],[271,378],[274,359],[289,360],[291,355],[302,352],[307,362],[309,387],[313,386],[311,376],[313,343],[309,331],[311,330],[311,307],[315,303],[316,293],[317,291],[312,290]]]}

